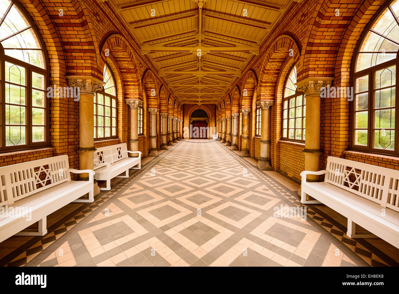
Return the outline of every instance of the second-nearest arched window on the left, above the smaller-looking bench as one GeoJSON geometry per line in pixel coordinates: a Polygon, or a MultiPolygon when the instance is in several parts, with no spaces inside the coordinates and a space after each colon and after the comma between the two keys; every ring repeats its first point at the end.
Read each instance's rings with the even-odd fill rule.
{"type": "Polygon", "coordinates": [[[94,138],[117,138],[117,90],[109,66],[104,66],[104,90],[94,97],[94,138]]]}

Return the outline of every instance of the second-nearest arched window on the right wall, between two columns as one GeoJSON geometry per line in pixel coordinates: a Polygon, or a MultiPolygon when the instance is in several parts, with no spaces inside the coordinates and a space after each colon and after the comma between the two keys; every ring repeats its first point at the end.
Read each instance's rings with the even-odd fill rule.
{"type": "Polygon", "coordinates": [[[294,141],[305,140],[306,98],[296,91],[296,67],[288,75],[282,100],[282,138],[294,141]]]}

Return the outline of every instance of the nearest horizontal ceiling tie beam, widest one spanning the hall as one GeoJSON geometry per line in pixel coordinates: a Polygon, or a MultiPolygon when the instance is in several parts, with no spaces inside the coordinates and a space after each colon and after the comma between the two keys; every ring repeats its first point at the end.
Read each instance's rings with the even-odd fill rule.
{"type": "Polygon", "coordinates": [[[201,50],[201,55],[207,52],[249,52],[258,55],[258,46],[141,46],[141,53],[148,52],[192,52],[197,54],[197,50],[201,50]]]}

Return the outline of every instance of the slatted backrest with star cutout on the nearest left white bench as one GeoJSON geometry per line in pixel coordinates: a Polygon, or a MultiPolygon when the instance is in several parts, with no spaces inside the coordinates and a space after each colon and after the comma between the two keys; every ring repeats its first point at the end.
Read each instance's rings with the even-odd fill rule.
{"type": "Polygon", "coordinates": [[[71,181],[68,155],[0,167],[0,207],[71,181]]]}

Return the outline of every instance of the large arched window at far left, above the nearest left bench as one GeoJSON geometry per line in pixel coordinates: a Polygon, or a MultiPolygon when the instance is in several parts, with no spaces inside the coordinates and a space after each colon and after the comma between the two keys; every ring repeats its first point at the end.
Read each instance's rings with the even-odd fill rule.
{"type": "Polygon", "coordinates": [[[48,98],[52,97],[43,43],[17,2],[1,4],[0,150],[43,147],[48,145],[48,98]]]}

